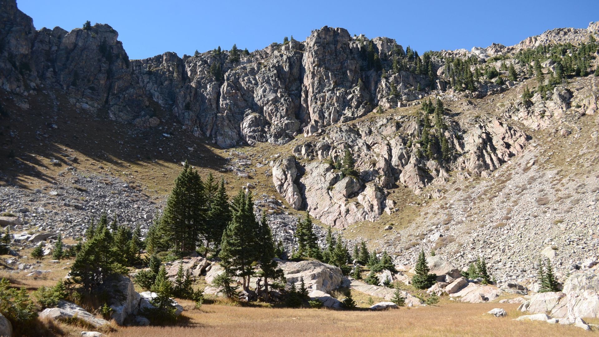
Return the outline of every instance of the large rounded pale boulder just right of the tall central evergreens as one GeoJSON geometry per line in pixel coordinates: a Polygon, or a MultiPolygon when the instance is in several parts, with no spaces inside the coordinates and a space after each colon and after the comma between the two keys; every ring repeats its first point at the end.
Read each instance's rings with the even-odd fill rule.
{"type": "Polygon", "coordinates": [[[299,285],[303,280],[309,290],[330,293],[343,281],[341,269],[320,261],[280,261],[279,267],[283,269],[288,283],[299,285]]]}

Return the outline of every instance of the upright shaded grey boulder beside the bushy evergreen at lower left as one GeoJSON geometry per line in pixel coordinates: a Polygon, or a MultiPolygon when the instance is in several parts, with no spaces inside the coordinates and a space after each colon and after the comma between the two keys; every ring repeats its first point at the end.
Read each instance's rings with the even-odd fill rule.
{"type": "Polygon", "coordinates": [[[106,289],[109,291],[110,308],[113,309],[113,314],[110,317],[117,324],[122,325],[140,305],[140,294],[135,291],[131,279],[125,276],[119,276],[109,282],[106,289]]]}

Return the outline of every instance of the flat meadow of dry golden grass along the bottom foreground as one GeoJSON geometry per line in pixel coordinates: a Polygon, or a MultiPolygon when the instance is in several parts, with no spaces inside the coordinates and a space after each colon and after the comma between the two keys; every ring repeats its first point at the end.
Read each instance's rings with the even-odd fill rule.
{"type": "MultiPolygon", "coordinates": [[[[185,303],[186,309],[191,304],[185,303]]],[[[122,327],[110,336],[579,336],[573,326],[513,321],[518,305],[450,303],[382,312],[204,305],[183,326],[122,327]],[[506,318],[483,315],[501,307],[506,318]]]]}

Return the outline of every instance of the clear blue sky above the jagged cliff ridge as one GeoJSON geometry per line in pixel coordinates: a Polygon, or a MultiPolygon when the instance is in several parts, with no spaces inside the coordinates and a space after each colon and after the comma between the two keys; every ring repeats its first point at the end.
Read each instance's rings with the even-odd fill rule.
{"type": "Polygon", "coordinates": [[[17,0],[35,28],[108,23],[129,58],[171,51],[192,55],[221,46],[262,49],[283,37],[305,40],[322,26],[395,38],[426,50],[506,46],[547,29],[586,28],[599,20],[599,0],[579,1],[157,1],[17,0]],[[386,4],[383,4],[386,2],[386,4]]]}

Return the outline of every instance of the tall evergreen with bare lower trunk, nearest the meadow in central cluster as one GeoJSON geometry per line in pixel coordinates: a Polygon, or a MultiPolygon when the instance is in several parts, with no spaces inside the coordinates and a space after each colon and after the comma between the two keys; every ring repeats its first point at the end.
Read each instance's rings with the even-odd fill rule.
{"type": "Polygon", "coordinates": [[[259,258],[256,242],[258,221],[253,212],[252,195],[246,195],[240,189],[233,208],[231,222],[223,231],[219,257],[225,270],[231,275],[241,277],[243,290],[249,291],[250,277],[254,273],[252,264],[259,258]]]}

